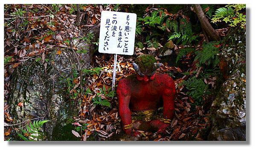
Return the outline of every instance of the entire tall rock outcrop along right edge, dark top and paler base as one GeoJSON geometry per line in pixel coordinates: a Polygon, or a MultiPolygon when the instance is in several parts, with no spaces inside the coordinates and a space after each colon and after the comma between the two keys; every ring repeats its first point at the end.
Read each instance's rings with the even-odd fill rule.
{"type": "Polygon", "coordinates": [[[226,36],[228,47],[219,55],[225,81],[211,106],[208,140],[246,140],[245,31],[230,31],[226,36]]]}

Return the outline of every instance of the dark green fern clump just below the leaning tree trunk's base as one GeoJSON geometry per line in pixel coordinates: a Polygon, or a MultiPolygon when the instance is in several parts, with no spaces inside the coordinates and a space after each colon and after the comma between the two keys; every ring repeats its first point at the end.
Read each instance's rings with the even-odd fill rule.
{"type": "Polygon", "coordinates": [[[217,66],[219,59],[216,54],[218,54],[219,51],[218,51],[218,48],[215,47],[215,45],[218,45],[218,44],[219,42],[215,42],[215,41],[209,42],[209,43],[204,42],[202,51],[195,52],[196,54],[195,60],[198,60],[200,65],[212,64],[213,67],[217,66]]]}

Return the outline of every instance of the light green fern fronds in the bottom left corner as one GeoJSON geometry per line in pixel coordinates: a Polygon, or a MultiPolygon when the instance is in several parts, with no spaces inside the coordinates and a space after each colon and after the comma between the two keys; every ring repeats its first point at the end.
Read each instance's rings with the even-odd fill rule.
{"type": "Polygon", "coordinates": [[[26,129],[21,129],[23,134],[17,133],[17,135],[25,141],[42,139],[44,134],[40,129],[43,127],[44,123],[47,122],[49,122],[49,120],[38,120],[34,121],[33,123],[30,122],[28,125],[26,125],[26,129]]]}

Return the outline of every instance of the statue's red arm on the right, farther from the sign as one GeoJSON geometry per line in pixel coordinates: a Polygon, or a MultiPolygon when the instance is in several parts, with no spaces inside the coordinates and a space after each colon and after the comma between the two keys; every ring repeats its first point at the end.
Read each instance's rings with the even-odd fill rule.
{"type": "Polygon", "coordinates": [[[163,118],[169,123],[174,116],[174,99],[176,94],[175,84],[171,77],[166,80],[163,90],[163,118]]]}

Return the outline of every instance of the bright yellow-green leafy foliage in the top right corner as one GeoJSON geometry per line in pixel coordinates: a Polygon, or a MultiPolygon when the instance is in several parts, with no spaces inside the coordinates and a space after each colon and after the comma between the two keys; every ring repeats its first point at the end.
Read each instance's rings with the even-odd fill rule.
{"type": "Polygon", "coordinates": [[[245,4],[234,4],[221,7],[215,11],[212,23],[224,21],[225,23],[229,23],[229,26],[231,27],[240,25],[241,28],[245,28],[246,15],[241,13],[241,10],[245,9],[245,7],[245,4]]]}

